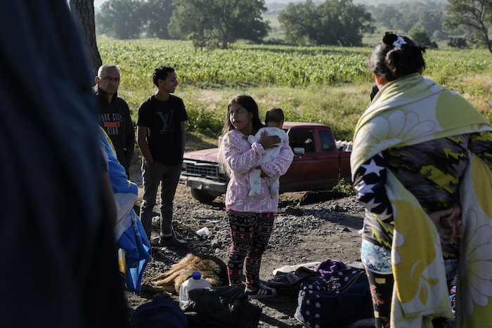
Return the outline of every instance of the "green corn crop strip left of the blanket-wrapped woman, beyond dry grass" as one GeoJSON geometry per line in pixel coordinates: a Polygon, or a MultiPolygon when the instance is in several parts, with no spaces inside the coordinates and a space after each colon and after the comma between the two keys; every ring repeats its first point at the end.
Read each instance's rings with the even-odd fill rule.
{"type": "Polygon", "coordinates": [[[293,46],[248,46],[195,51],[188,41],[141,39],[101,41],[103,61],[127,73],[129,87],[148,82],[158,65],[179,72],[183,84],[308,86],[355,81],[365,77],[369,49],[293,46]]]}

